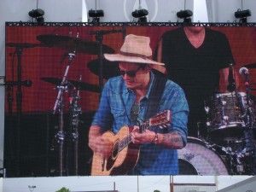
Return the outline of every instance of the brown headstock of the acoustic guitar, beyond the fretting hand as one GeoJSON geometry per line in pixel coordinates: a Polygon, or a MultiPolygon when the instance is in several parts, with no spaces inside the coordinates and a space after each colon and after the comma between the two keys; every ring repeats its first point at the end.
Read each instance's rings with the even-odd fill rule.
{"type": "Polygon", "coordinates": [[[172,114],[170,110],[165,110],[162,113],[158,113],[154,117],[148,119],[149,126],[166,125],[171,122],[172,114]]]}

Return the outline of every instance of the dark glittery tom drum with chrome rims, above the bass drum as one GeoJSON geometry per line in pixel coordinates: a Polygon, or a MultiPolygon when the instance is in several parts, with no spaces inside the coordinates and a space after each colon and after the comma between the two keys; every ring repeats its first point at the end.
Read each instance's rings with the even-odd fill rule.
{"type": "MultiPolygon", "coordinates": [[[[252,105],[252,103],[250,103],[252,105]]],[[[210,137],[241,138],[246,127],[246,93],[216,94],[205,101],[210,137]]]]}

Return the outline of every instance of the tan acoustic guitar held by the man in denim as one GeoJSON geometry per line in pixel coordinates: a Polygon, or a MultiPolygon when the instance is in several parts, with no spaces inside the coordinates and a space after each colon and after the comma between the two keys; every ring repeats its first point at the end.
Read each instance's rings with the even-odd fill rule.
{"type": "MultiPolygon", "coordinates": [[[[164,128],[171,122],[171,119],[171,111],[166,110],[143,122],[140,125],[140,131],[145,131],[150,126],[156,125],[164,128]]],[[[137,165],[140,145],[131,142],[131,131],[132,128],[125,125],[116,135],[111,131],[103,133],[102,137],[108,137],[109,141],[113,143],[112,153],[108,158],[93,154],[92,176],[125,175],[137,165]]]]}

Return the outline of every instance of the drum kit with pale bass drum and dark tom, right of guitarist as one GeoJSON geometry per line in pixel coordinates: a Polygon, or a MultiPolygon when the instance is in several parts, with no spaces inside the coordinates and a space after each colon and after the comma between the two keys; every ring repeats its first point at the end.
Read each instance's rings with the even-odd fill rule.
{"type": "MultiPolygon", "coordinates": [[[[180,173],[184,175],[255,175],[256,106],[250,94],[248,68],[241,67],[246,92],[216,94],[205,103],[206,134],[188,137],[187,146],[178,150],[180,173]]],[[[201,131],[204,132],[204,131],[201,131]]]]}

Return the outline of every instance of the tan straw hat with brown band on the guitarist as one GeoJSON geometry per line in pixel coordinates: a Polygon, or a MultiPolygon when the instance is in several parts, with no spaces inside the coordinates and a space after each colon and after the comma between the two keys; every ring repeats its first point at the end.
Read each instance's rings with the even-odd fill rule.
{"type": "Polygon", "coordinates": [[[149,43],[150,38],[148,37],[127,35],[119,54],[104,54],[104,56],[108,61],[148,63],[164,66],[164,63],[151,60],[152,49],[149,43]]]}

